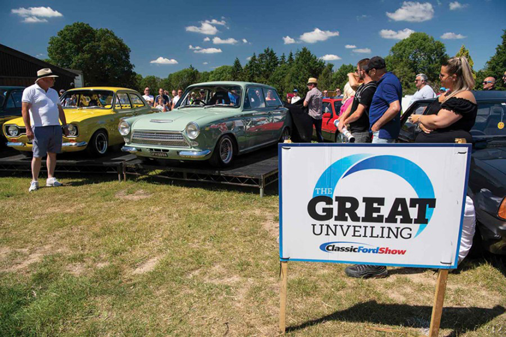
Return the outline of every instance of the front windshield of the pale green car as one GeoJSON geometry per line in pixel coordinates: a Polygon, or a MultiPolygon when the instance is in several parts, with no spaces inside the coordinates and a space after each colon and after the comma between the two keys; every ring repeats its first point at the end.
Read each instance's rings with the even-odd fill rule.
{"type": "Polygon", "coordinates": [[[237,85],[202,85],[186,89],[181,99],[183,107],[239,107],[242,89],[237,85]]]}

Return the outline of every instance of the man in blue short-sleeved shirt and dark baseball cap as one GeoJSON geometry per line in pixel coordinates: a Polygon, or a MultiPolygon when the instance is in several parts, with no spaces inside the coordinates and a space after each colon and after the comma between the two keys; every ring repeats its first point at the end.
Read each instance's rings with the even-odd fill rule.
{"type": "Polygon", "coordinates": [[[386,71],[385,60],[375,56],[369,60],[369,76],[378,89],[369,108],[372,143],[395,143],[401,129],[401,82],[386,71]]]}

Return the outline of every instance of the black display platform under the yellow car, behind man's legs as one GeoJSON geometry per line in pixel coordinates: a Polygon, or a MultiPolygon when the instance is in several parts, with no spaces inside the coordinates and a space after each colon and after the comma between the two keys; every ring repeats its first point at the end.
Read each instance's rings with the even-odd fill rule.
{"type": "MultiPolygon", "coordinates": [[[[0,172],[31,172],[31,158],[18,152],[2,151],[0,158],[0,172]]],[[[80,153],[66,153],[58,156],[55,172],[65,173],[107,173],[116,174],[121,181],[123,176],[123,162],[135,159],[134,155],[123,152],[111,153],[101,158],[87,158],[80,153]]],[[[46,160],[42,160],[41,172],[46,170],[46,160]]]]}

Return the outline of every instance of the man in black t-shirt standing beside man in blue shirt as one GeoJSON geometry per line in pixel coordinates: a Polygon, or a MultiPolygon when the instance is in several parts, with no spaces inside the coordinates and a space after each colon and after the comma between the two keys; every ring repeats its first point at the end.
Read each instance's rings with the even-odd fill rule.
{"type": "Polygon", "coordinates": [[[353,103],[348,106],[343,115],[339,118],[338,129],[342,132],[345,125],[349,124],[348,130],[355,137],[355,143],[370,143],[371,135],[369,133],[369,107],[372,102],[374,92],[376,92],[376,82],[369,77],[367,65],[369,59],[360,60],[357,63],[359,78],[364,81],[357,88],[353,103]]]}

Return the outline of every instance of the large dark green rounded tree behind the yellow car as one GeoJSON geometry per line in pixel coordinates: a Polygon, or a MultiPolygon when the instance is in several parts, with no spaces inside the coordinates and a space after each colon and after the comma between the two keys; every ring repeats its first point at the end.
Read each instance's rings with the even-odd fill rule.
{"type": "Polygon", "coordinates": [[[136,87],[130,48],[113,31],[76,22],[49,39],[50,63],[82,70],[87,86],[136,87]]]}

